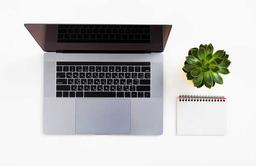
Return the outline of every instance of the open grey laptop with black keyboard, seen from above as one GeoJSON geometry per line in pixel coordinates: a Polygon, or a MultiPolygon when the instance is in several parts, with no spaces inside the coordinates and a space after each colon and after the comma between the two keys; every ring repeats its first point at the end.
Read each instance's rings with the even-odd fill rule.
{"type": "Polygon", "coordinates": [[[25,27],[45,51],[44,134],[162,135],[171,25],[25,27]]]}

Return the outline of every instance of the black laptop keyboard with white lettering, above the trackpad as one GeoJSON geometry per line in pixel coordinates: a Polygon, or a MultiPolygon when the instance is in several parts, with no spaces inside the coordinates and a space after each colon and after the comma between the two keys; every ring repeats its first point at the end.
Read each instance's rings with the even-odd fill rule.
{"type": "Polygon", "coordinates": [[[150,62],[57,62],[56,97],[150,97],[150,62]]]}

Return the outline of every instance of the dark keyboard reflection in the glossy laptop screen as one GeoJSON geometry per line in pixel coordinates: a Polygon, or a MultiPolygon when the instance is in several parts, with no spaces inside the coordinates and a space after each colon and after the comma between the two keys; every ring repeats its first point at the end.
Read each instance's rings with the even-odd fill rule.
{"type": "Polygon", "coordinates": [[[150,25],[58,25],[58,43],[150,43],[150,25]]]}

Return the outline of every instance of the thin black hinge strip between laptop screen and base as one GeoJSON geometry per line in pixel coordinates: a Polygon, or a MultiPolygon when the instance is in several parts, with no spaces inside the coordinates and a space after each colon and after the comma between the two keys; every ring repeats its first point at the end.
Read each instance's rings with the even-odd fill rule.
{"type": "Polygon", "coordinates": [[[56,50],[57,53],[112,53],[112,54],[146,54],[151,51],[126,51],[126,50],[56,50]]]}

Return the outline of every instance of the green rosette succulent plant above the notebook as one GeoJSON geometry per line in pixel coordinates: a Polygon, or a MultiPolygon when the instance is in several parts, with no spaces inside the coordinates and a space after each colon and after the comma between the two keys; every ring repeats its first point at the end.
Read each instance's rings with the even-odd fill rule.
{"type": "Polygon", "coordinates": [[[205,85],[211,88],[215,83],[222,84],[220,74],[229,74],[227,67],[230,65],[229,55],[224,50],[213,53],[213,45],[200,45],[199,48],[191,48],[189,56],[182,70],[188,80],[193,81],[195,87],[205,85]]]}

